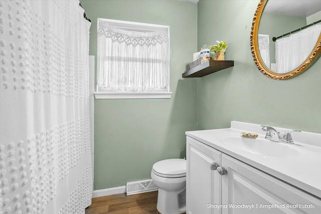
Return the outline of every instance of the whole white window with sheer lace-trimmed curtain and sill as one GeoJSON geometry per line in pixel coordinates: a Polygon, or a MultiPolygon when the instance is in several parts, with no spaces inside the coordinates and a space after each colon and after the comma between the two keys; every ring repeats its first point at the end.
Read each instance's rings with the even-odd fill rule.
{"type": "Polygon", "coordinates": [[[170,27],[98,18],[96,99],[171,98],[170,27]]]}

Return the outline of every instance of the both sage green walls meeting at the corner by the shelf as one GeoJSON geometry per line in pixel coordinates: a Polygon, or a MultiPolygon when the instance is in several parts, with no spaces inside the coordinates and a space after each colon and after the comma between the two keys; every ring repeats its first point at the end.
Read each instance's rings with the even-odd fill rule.
{"type": "Polygon", "coordinates": [[[171,26],[172,99],[95,100],[94,189],[150,178],[152,164],[185,157],[185,131],[226,128],[231,120],[321,133],[321,60],[290,80],[256,68],[250,31],[258,0],[82,0],[91,19],[90,55],[96,56],[96,17],[171,26]],[[182,79],[203,44],[225,40],[234,67],[182,79]]]}

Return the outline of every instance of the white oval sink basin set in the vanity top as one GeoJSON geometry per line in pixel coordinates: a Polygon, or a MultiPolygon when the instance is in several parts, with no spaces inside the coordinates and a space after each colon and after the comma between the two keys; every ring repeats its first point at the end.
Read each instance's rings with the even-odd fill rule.
{"type": "Polygon", "coordinates": [[[262,137],[246,138],[242,136],[222,136],[219,140],[230,147],[246,152],[269,157],[298,157],[301,152],[295,144],[285,144],[267,140],[262,137]]]}

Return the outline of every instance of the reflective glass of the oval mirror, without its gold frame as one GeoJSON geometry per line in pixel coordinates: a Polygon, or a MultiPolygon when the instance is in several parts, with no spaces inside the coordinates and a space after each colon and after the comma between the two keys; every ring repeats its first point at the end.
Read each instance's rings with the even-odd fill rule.
{"type": "Polygon", "coordinates": [[[308,58],[320,32],[321,0],[269,0],[258,29],[260,57],[271,71],[290,72],[308,58]]]}

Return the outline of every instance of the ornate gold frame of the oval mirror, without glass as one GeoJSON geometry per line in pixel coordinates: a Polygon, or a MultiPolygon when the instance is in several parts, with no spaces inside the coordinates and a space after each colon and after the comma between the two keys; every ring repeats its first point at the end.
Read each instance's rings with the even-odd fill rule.
{"type": "Polygon", "coordinates": [[[251,28],[251,51],[252,51],[252,56],[254,63],[256,64],[256,67],[259,69],[259,71],[264,74],[265,76],[275,79],[275,80],[286,80],[290,79],[294,76],[299,75],[300,73],[304,72],[308,66],[313,62],[313,60],[316,59],[316,57],[319,55],[321,52],[321,34],[318,38],[318,42],[315,44],[313,50],[311,51],[310,55],[306,58],[306,60],[299,65],[296,69],[284,73],[284,74],[279,74],[273,72],[271,69],[265,66],[259,52],[259,46],[258,46],[258,30],[259,30],[259,24],[260,24],[260,19],[264,10],[264,7],[266,5],[268,0],[261,0],[259,2],[259,5],[257,6],[257,9],[254,14],[253,18],[253,23],[252,23],[252,28],[251,28]]]}

